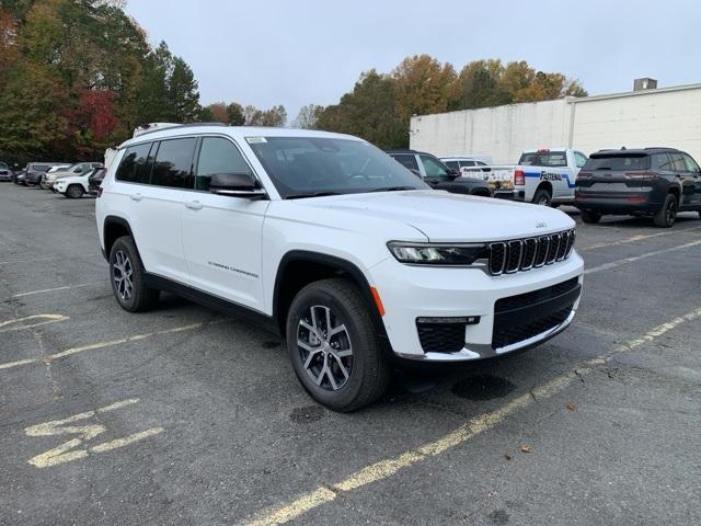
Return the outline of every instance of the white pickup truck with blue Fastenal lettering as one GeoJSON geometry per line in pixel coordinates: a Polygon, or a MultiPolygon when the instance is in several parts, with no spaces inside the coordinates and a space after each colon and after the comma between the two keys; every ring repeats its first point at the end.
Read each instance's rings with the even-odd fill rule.
{"type": "Polygon", "coordinates": [[[558,206],[574,203],[575,180],[587,156],[572,148],[526,150],[518,164],[462,168],[462,176],[484,181],[494,197],[558,206]]]}

